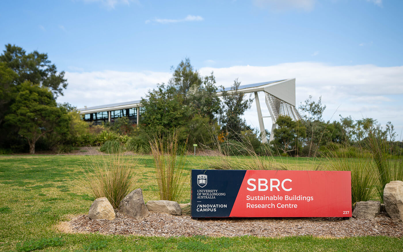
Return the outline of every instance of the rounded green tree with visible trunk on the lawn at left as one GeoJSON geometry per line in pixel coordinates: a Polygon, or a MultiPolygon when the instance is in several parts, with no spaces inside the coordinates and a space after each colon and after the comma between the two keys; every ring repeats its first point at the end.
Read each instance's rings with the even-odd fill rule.
{"type": "Polygon", "coordinates": [[[67,110],[56,106],[52,92],[47,87],[24,81],[18,91],[5,121],[16,127],[19,135],[28,140],[29,153],[35,154],[35,143],[48,132],[68,134],[67,110]]]}

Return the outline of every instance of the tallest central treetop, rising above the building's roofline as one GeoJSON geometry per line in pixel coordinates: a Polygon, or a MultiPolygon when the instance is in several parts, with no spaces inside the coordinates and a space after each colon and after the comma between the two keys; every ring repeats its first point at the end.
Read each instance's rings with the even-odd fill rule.
{"type": "MultiPolygon", "coordinates": [[[[173,66],[171,67],[173,69],[173,66]]],[[[190,59],[185,58],[185,61],[181,61],[172,74],[172,78],[169,80],[169,85],[174,86],[179,94],[182,95],[183,103],[188,105],[187,92],[191,87],[199,87],[202,85],[202,79],[197,71],[193,70],[190,64],[190,59]]]]}

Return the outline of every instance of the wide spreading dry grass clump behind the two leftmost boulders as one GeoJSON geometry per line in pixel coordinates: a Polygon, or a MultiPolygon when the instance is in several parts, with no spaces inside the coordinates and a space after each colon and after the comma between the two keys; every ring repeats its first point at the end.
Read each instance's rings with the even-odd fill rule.
{"type": "Polygon", "coordinates": [[[135,189],[139,166],[137,158],[127,155],[91,156],[84,162],[84,176],[79,183],[95,198],[106,197],[113,208],[135,189]]]}

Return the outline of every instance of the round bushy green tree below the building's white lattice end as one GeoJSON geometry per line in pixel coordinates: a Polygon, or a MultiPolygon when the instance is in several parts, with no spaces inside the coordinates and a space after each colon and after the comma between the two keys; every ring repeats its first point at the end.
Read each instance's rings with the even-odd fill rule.
{"type": "Polygon", "coordinates": [[[282,150],[283,154],[299,150],[301,138],[306,135],[306,129],[300,121],[296,122],[289,116],[280,115],[276,123],[278,127],[273,130],[274,140],[270,144],[277,150],[282,150]]]}

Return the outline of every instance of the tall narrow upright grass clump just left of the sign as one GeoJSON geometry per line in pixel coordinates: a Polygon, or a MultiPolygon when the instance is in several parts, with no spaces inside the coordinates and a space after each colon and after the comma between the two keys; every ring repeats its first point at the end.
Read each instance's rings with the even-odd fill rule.
{"type": "Polygon", "coordinates": [[[161,135],[150,140],[161,200],[178,201],[181,196],[185,183],[182,177],[186,145],[187,140],[179,147],[176,131],[167,137],[167,141],[161,135]]]}

